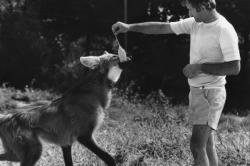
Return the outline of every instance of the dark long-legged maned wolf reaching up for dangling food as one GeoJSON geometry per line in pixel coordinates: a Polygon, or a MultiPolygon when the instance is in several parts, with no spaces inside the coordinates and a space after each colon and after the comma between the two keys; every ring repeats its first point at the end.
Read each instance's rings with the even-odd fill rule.
{"type": "Polygon", "coordinates": [[[111,100],[111,88],[121,69],[119,56],[105,52],[99,57],[81,57],[90,68],[79,85],[51,103],[0,114],[0,137],[5,149],[0,160],[34,166],[42,151],[40,139],[61,146],[66,166],[72,166],[71,145],[77,140],[108,166],[115,160],[95,142],[93,133],[101,124],[111,100]]]}

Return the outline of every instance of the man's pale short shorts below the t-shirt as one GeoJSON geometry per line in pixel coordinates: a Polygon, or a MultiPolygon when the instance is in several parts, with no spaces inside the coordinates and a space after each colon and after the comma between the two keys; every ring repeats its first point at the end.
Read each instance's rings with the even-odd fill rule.
{"type": "Polygon", "coordinates": [[[216,130],[226,101],[226,89],[222,87],[190,87],[189,122],[192,125],[208,125],[216,130]]]}

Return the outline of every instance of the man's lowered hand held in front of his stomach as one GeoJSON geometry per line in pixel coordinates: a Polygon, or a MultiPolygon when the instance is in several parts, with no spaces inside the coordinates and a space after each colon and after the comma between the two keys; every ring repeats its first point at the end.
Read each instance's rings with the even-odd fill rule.
{"type": "Polygon", "coordinates": [[[183,69],[183,74],[187,78],[194,78],[201,72],[201,64],[188,64],[183,69]]]}

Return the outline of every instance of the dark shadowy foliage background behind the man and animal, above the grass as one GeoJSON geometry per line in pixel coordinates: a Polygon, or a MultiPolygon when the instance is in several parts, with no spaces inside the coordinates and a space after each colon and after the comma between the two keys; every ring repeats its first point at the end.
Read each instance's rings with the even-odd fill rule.
{"type": "MultiPolygon", "coordinates": [[[[81,74],[80,56],[116,53],[111,25],[127,22],[177,21],[187,10],[177,0],[3,0],[0,1],[0,81],[64,92],[81,74]]],[[[250,108],[250,1],[217,0],[218,11],[240,39],[242,69],[227,77],[231,112],[250,108]]],[[[161,89],[173,104],[187,100],[182,68],[189,62],[189,36],[119,35],[132,62],[118,87],[142,97],[161,89]]],[[[237,112],[237,111],[236,111],[237,112]]],[[[240,112],[244,113],[244,112],[240,112]]]]}

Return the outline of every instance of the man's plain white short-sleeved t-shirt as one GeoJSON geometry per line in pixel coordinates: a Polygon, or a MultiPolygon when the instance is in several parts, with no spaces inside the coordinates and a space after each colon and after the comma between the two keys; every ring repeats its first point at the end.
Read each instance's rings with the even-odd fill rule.
{"type": "MultiPolygon", "coordinates": [[[[191,17],[170,26],[177,35],[191,35],[190,64],[240,60],[237,33],[223,16],[211,23],[197,23],[191,17]]],[[[192,87],[218,87],[226,84],[225,77],[201,73],[188,82],[192,87]]]]}

